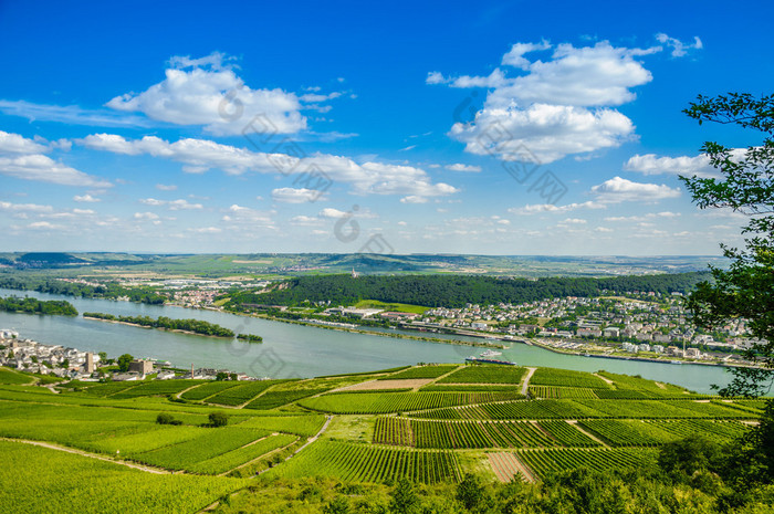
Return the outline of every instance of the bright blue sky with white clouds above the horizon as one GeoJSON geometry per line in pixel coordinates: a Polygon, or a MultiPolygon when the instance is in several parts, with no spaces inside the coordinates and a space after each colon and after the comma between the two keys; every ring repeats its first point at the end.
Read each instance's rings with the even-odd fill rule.
{"type": "Polygon", "coordinates": [[[773,11],[0,2],[2,250],[717,254],[677,176],[759,140],[681,109],[771,93],[773,11]]]}

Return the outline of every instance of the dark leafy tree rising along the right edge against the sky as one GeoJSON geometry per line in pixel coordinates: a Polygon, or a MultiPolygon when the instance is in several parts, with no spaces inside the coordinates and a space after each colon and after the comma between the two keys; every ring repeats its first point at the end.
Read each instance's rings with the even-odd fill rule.
{"type": "Polygon", "coordinates": [[[749,321],[759,342],[743,355],[759,367],[732,368],[733,380],[720,392],[757,397],[771,389],[774,379],[774,95],[700,95],[683,112],[700,125],[730,124],[763,134],[760,145],[746,149],[704,143],[702,153],[719,177],[680,177],[699,208],[731,209],[747,218],[742,229],[745,248],[721,244],[730,268],[711,266],[713,282],[699,283],[688,307],[694,323],[704,328],[729,319],[749,321]]]}

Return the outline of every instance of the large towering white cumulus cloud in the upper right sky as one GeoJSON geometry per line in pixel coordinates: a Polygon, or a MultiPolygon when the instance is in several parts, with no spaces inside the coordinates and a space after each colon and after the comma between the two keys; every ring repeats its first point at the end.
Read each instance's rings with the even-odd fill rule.
{"type": "Polygon", "coordinates": [[[635,87],[652,80],[639,57],[662,51],[614,46],[516,43],[502,57],[509,76],[496,69],[488,76],[428,75],[428,84],[489,87],[471,123],[457,123],[449,136],[466,151],[502,160],[552,162],[567,155],[614,148],[635,137],[631,120],[614,107],[636,98],[635,87]],[[527,54],[547,53],[547,59],[527,54]]]}

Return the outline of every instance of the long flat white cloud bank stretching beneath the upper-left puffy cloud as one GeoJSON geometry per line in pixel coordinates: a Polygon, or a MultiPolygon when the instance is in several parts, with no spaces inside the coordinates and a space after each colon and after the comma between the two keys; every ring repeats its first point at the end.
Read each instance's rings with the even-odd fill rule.
{"type": "MultiPolygon", "coordinates": [[[[79,143],[93,149],[115,154],[147,154],[170,159],[185,165],[188,172],[205,172],[210,168],[222,169],[229,175],[247,171],[261,174],[296,174],[299,180],[349,183],[357,195],[416,195],[439,197],[453,195],[458,189],[443,182],[432,182],[428,174],[412,166],[383,162],[355,162],[354,160],[330,154],[314,154],[297,158],[286,154],[265,154],[221,145],[207,139],[180,139],[166,141],[155,136],[142,139],[126,139],[114,134],[93,134],[79,143]],[[318,180],[320,179],[320,180],[318,180]]],[[[314,189],[306,183],[307,189],[314,189]]],[[[321,189],[321,188],[316,188],[321,189]]]]}

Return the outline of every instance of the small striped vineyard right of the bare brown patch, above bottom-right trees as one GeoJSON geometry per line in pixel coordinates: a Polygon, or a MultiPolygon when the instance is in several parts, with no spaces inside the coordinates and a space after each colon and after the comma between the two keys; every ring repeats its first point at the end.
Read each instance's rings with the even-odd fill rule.
{"type": "Polygon", "coordinates": [[[639,465],[644,460],[655,459],[656,451],[648,449],[546,449],[522,450],[515,457],[526,464],[535,475],[543,479],[550,473],[590,468],[603,471],[626,469],[639,465]]]}

